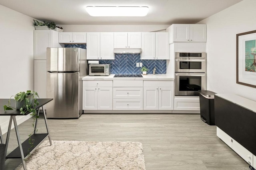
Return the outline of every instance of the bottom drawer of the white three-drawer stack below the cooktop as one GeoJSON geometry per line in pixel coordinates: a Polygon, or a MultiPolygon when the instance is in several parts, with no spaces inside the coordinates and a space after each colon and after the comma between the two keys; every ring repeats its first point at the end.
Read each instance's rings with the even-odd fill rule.
{"type": "Polygon", "coordinates": [[[143,99],[113,99],[113,110],[142,110],[143,99]]]}

